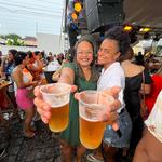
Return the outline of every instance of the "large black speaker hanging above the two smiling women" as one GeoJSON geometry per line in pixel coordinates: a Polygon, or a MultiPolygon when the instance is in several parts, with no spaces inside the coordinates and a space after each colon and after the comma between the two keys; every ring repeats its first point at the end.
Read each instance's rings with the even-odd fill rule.
{"type": "Polygon", "coordinates": [[[85,0],[87,28],[91,32],[124,19],[123,0],[85,0]]]}

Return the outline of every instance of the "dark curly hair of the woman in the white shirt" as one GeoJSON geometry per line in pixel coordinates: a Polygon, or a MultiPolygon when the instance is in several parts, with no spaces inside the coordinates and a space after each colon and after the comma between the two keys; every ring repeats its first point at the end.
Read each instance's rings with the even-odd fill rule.
{"type": "Polygon", "coordinates": [[[124,55],[130,49],[130,36],[120,26],[110,28],[105,35],[105,39],[116,40],[118,42],[119,52],[121,55],[124,55]]]}

